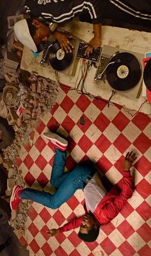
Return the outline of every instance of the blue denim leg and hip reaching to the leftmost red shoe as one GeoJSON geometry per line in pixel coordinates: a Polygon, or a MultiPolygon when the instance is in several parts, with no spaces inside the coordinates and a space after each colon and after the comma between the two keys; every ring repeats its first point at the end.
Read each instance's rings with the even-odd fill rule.
{"type": "Polygon", "coordinates": [[[61,183],[55,194],[36,191],[35,189],[24,189],[20,193],[21,199],[28,199],[41,203],[51,209],[57,209],[65,203],[77,189],[83,189],[83,183],[88,176],[93,176],[92,169],[89,166],[77,166],[69,172],[67,178],[61,183]]]}

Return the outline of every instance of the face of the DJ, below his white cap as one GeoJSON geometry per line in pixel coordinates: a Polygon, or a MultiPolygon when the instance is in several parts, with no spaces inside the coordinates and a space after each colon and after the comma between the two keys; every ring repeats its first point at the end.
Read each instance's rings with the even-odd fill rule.
{"type": "Polygon", "coordinates": [[[42,41],[47,41],[51,35],[51,30],[42,22],[36,21],[35,19],[32,22],[33,26],[36,27],[36,33],[34,35],[34,42],[38,46],[42,41]]]}

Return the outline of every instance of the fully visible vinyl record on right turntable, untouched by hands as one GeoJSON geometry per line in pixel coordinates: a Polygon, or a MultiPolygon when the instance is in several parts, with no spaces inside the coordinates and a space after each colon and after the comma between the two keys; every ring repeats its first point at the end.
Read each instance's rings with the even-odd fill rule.
{"type": "Polygon", "coordinates": [[[106,78],[115,90],[129,90],[136,86],[141,78],[141,65],[131,53],[118,53],[111,58],[106,70],[106,78]]]}

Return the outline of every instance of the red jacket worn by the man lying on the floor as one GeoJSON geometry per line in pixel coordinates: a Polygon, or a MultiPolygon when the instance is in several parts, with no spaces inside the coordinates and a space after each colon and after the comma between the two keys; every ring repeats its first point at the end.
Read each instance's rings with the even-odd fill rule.
{"type": "MultiPolygon", "coordinates": [[[[113,218],[118,215],[122,210],[124,203],[128,198],[132,196],[132,176],[130,171],[123,171],[123,186],[122,191],[118,192],[114,186],[106,196],[97,205],[97,208],[93,212],[95,218],[98,219],[100,225],[107,225],[113,218]]],[[[85,209],[86,210],[86,209],[85,209]]],[[[85,215],[85,214],[84,214],[85,215]]],[[[74,228],[78,228],[81,225],[83,216],[75,218],[68,222],[60,229],[60,232],[65,232],[74,228]]]]}

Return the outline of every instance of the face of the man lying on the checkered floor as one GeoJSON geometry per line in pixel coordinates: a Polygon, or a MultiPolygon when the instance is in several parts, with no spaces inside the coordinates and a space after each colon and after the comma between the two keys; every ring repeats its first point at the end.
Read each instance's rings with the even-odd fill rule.
{"type": "Polygon", "coordinates": [[[91,212],[87,212],[86,215],[83,217],[83,222],[80,226],[80,232],[82,234],[88,234],[91,230],[92,226],[95,225],[95,219],[91,212]]]}

